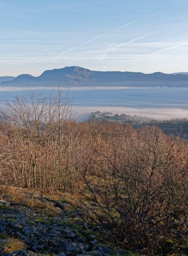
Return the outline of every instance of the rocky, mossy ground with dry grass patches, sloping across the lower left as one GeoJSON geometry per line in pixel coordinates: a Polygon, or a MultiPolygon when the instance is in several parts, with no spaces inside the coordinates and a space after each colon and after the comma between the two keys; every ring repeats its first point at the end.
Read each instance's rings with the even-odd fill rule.
{"type": "Polygon", "coordinates": [[[0,245],[7,237],[26,245],[13,252],[0,246],[1,255],[131,255],[101,242],[98,228],[83,220],[82,212],[68,200],[27,190],[1,190],[0,195],[0,245]]]}

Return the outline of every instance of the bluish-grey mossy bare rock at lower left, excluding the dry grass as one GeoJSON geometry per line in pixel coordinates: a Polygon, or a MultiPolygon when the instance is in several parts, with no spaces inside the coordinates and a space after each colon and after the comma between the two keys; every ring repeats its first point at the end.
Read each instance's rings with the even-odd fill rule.
{"type": "MultiPolygon", "coordinates": [[[[47,203],[50,199],[44,197],[43,201],[47,203]]],[[[45,214],[38,214],[27,207],[0,201],[0,204],[6,206],[2,207],[0,211],[0,231],[4,235],[20,237],[27,246],[27,250],[6,254],[0,251],[0,254],[10,256],[43,256],[47,253],[51,256],[110,255],[111,247],[100,246],[92,234],[91,241],[84,238],[82,231],[92,232],[92,227],[82,221],[79,210],[75,210],[73,214],[66,213],[64,206],[69,203],[53,202],[54,205],[61,208],[62,212],[58,217],[48,218],[45,214]],[[79,222],[78,225],[75,225],[78,226],[77,229],[72,229],[71,225],[69,226],[69,218],[71,218],[70,223],[75,221],[77,224],[79,222]]]]}

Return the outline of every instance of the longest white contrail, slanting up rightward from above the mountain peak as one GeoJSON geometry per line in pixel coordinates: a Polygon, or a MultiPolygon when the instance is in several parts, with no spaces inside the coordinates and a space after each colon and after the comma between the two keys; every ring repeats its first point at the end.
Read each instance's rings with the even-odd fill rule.
{"type": "Polygon", "coordinates": [[[83,43],[83,44],[78,44],[78,45],[76,45],[76,46],[70,48],[69,50],[63,51],[63,53],[58,54],[58,55],[57,55],[56,57],[54,57],[52,60],[56,60],[56,59],[58,59],[58,57],[62,56],[63,54],[69,53],[69,52],[72,51],[72,50],[75,50],[75,49],[77,49],[77,48],[79,48],[79,47],[81,47],[81,46],[83,46],[83,45],[86,45],[86,44],[88,44],[88,43],[90,43],[90,42],[93,42],[94,40],[96,40],[96,39],[98,39],[98,38],[100,38],[100,37],[104,37],[104,36],[106,36],[106,34],[110,34],[110,33],[114,32],[114,31],[120,30],[120,28],[129,26],[129,25],[134,24],[134,23],[136,23],[136,22],[138,22],[138,21],[141,21],[141,20],[143,20],[143,19],[149,18],[149,17],[151,17],[151,16],[156,16],[156,15],[158,15],[158,14],[160,14],[160,13],[155,13],[155,14],[151,14],[151,15],[144,16],[144,17],[142,17],[141,19],[137,19],[137,20],[131,21],[131,22],[129,22],[129,23],[123,25],[123,26],[120,26],[120,27],[115,28],[114,30],[110,30],[110,31],[108,31],[108,32],[106,32],[106,33],[104,33],[104,34],[100,34],[100,36],[94,37],[94,38],[88,40],[87,42],[85,42],[85,43],[83,43]]]}

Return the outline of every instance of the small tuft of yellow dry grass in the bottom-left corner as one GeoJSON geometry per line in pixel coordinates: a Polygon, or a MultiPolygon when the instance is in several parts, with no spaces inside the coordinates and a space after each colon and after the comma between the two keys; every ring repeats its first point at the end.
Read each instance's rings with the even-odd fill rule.
{"type": "Polygon", "coordinates": [[[15,237],[7,237],[4,240],[0,240],[0,249],[3,253],[11,253],[26,248],[25,243],[15,237]]]}

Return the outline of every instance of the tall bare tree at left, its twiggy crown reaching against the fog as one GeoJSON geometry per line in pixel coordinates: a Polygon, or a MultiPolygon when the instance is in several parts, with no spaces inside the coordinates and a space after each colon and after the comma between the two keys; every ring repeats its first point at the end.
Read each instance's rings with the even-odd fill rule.
{"type": "MultiPolygon", "coordinates": [[[[7,112],[1,111],[1,118],[9,125],[9,129],[17,139],[20,151],[21,175],[25,176],[25,160],[29,162],[32,173],[32,187],[38,183],[38,162],[41,155],[45,155],[45,172],[47,179],[48,150],[50,142],[57,139],[58,168],[61,166],[63,145],[63,129],[66,121],[72,119],[74,108],[68,99],[62,97],[60,88],[57,94],[48,98],[35,92],[29,92],[26,97],[16,97],[14,102],[7,103],[7,112]],[[54,129],[58,126],[57,136],[54,129]]],[[[28,184],[29,185],[29,184],[28,184]]]]}

